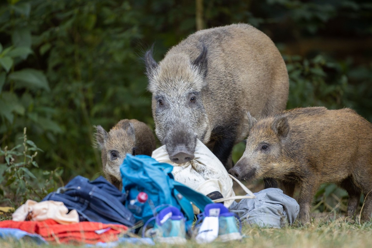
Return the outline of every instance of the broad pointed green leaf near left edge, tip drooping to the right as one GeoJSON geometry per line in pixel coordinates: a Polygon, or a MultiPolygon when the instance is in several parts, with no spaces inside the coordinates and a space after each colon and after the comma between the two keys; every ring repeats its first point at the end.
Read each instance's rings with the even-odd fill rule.
{"type": "Polygon", "coordinates": [[[18,83],[24,83],[24,85],[20,84],[21,87],[43,88],[50,91],[47,77],[45,77],[42,71],[23,69],[10,74],[9,79],[15,80],[18,83]]]}

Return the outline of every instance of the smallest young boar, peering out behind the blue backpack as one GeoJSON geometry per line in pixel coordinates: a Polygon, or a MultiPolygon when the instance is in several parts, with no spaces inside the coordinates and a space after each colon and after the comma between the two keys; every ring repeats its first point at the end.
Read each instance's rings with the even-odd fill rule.
{"type": "Polygon", "coordinates": [[[151,156],[156,148],[151,129],[135,119],[121,120],[109,132],[96,126],[95,138],[96,146],[101,149],[103,173],[118,189],[122,184],[119,167],[126,154],[151,156]]]}

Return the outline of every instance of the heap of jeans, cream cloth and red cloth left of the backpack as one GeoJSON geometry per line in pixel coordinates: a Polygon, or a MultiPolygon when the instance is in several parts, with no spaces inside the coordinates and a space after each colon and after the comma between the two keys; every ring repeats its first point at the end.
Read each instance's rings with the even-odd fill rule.
{"type": "Polygon", "coordinates": [[[118,241],[135,222],[125,200],[126,195],[105,178],[89,181],[77,176],[42,202],[27,200],[13,213],[13,220],[0,222],[0,236],[58,244],[118,241]]]}

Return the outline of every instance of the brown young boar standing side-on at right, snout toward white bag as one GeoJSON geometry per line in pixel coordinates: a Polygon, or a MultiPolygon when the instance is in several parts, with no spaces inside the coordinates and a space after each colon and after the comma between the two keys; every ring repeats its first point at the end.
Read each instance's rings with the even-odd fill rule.
{"type": "Polygon", "coordinates": [[[322,183],[337,183],[349,194],[346,216],[372,213],[372,124],[351,109],[309,107],[272,113],[256,121],[248,113],[246,150],[229,171],[236,178],[273,177],[292,196],[300,186],[299,220],[310,221],[310,206],[322,183]]]}

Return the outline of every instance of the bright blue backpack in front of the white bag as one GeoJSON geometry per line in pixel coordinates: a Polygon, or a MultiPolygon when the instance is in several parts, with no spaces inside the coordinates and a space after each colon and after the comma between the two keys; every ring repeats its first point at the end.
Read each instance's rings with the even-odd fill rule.
{"type": "Polygon", "coordinates": [[[181,210],[187,222],[191,223],[194,212],[190,202],[201,212],[207,204],[212,203],[207,196],[175,181],[171,174],[172,170],[172,165],[160,163],[147,155],[126,154],[120,166],[123,193],[127,194],[126,207],[132,211],[131,206],[128,205],[139,192],[143,191],[148,195],[140,215],[132,211],[137,221],[146,222],[157,215],[163,207],[171,205],[181,210]]]}

